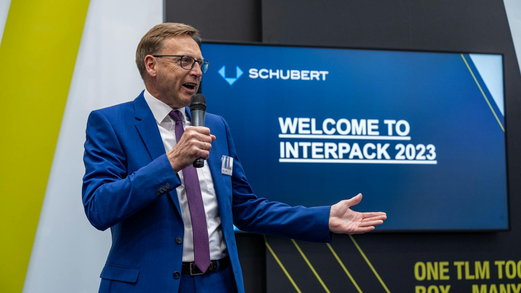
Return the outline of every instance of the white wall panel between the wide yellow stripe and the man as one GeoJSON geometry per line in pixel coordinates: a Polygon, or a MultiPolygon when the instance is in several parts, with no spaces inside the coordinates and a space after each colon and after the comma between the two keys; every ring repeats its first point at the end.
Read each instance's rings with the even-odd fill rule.
{"type": "Polygon", "coordinates": [[[111,241],[81,202],[86,120],[144,89],[135,48],[161,22],[162,0],[91,0],[23,292],[97,292],[111,241]]]}

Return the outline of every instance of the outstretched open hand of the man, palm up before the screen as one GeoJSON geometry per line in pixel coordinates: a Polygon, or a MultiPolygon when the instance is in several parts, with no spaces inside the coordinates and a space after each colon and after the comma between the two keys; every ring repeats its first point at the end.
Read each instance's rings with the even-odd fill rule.
{"type": "Polygon", "coordinates": [[[358,234],[366,233],[381,225],[387,218],[384,212],[360,213],[350,209],[362,200],[362,193],[342,200],[331,206],[329,212],[329,230],[333,233],[358,234]]]}

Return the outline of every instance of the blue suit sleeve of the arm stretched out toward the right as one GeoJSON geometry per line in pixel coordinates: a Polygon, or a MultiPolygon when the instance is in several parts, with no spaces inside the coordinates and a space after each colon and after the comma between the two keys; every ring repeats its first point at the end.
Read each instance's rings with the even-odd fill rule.
{"type": "Polygon", "coordinates": [[[229,154],[233,157],[233,224],[243,231],[252,233],[304,241],[331,242],[333,237],[329,232],[331,206],[289,206],[255,196],[237,157],[228,123],[222,120],[226,126],[229,154]]]}

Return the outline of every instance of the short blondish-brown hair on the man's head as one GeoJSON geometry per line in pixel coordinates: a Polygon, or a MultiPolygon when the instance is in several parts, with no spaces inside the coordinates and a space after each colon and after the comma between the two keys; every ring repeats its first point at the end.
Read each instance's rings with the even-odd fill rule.
{"type": "Polygon", "coordinates": [[[163,41],[171,36],[190,35],[192,39],[201,45],[201,35],[194,27],[184,23],[165,22],[151,28],[138,44],[135,50],[135,64],[138,66],[141,78],[145,80],[145,57],[158,53],[163,48],[163,41]]]}

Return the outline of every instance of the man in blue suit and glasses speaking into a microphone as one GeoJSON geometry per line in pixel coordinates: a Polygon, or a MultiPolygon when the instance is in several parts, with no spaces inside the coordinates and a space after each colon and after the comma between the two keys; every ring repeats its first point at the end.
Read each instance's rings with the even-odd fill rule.
{"type": "Polygon", "coordinates": [[[190,126],[186,106],[208,68],[200,42],[182,23],[153,27],[136,52],[146,89],[89,116],[83,205],[113,240],[100,292],[244,292],[233,224],[330,242],[332,233],[364,233],[386,219],[350,209],[362,194],[312,208],[257,198],[226,121],[206,114],[206,127],[190,126]],[[231,175],[220,172],[223,155],[233,158],[231,175]],[[194,168],[199,157],[207,161],[194,168]]]}

